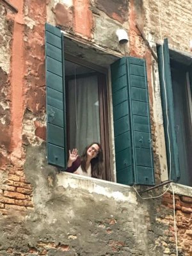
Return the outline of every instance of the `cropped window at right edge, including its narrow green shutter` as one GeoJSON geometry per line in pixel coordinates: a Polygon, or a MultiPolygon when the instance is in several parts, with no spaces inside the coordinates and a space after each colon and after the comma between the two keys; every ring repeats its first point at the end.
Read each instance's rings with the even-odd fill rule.
{"type": "Polygon", "coordinates": [[[191,60],[188,61],[188,58],[185,59],[181,54],[169,51],[168,40],[164,40],[163,53],[161,46],[157,47],[157,52],[168,170],[171,166],[171,179],[179,184],[192,186],[191,60]],[[162,56],[164,56],[164,70],[162,56]],[[166,117],[163,72],[164,81],[166,81],[168,118],[166,117]]]}

